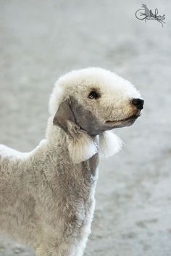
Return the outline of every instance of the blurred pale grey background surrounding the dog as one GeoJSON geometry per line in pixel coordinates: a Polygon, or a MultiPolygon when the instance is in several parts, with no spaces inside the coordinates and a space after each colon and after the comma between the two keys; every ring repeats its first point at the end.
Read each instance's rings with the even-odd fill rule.
{"type": "MultiPolygon", "coordinates": [[[[86,256],[171,255],[170,11],[169,0],[0,0],[1,144],[28,152],[44,138],[54,82],[73,69],[112,70],[145,99],[116,130],[122,151],[100,161],[86,256]],[[141,4],[165,14],[164,28],[135,18],[141,4]]],[[[34,254],[0,236],[0,255],[34,254]]]]}

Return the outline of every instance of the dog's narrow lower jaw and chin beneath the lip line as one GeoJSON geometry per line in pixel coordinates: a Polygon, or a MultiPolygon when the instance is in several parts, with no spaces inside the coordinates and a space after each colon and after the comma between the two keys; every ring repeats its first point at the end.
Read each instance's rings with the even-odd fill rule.
{"type": "Polygon", "coordinates": [[[127,117],[122,120],[108,120],[105,124],[107,125],[107,127],[109,127],[109,130],[114,128],[130,126],[133,125],[133,123],[135,123],[135,120],[137,120],[139,116],[140,115],[131,115],[130,117],[127,117]]]}

